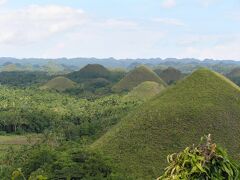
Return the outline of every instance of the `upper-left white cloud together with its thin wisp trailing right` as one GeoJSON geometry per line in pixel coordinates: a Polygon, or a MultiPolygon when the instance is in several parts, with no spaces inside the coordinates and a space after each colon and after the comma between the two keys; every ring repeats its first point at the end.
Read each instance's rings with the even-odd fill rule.
{"type": "Polygon", "coordinates": [[[58,34],[79,31],[86,26],[97,32],[103,28],[136,29],[138,24],[123,19],[89,18],[83,10],[66,6],[31,5],[0,12],[0,44],[18,46],[50,41],[58,34]]]}

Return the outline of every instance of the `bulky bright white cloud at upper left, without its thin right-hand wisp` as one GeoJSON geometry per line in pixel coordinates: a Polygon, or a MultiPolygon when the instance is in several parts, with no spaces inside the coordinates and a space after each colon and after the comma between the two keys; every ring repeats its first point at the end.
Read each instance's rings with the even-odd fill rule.
{"type": "Polygon", "coordinates": [[[86,21],[82,10],[56,5],[32,5],[4,11],[0,14],[0,43],[24,44],[44,40],[86,21]]]}

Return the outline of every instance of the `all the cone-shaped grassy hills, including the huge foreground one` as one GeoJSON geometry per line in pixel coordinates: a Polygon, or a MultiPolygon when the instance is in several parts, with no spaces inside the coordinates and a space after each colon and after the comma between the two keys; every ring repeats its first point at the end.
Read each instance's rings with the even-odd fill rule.
{"type": "MultiPolygon", "coordinates": [[[[139,66],[113,83],[112,73],[101,65],[87,65],[68,74],[69,79],[57,77],[46,86],[74,87],[73,80],[82,83],[104,79],[112,84],[113,92],[127,91],[125,98],[146,101],[91,146],[110,156],[121,173],[157,177],[166,165],[168,154],[182,150],[208,133],[237,158],[240,89],[226,77],[201,68],[184,78],[174,68],[154,72],[139,66]]],[[[231,75],[238,76],[237,69],[231,75]]]]}

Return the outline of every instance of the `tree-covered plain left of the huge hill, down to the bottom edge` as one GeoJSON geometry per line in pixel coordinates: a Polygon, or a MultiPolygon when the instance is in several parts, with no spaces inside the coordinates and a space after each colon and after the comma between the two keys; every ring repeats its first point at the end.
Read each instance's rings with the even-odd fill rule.
{"type": "Polygon", "coordinates": [[[115,125],[140,101],[111,95],[79,99],[39,89],[0,87],[0,178],[81,177],[104,179],[114,173],[110,159],[86,146],[115,125]],[[26,142],[10,134],[41,133],[26,142]],[[1,139],[0,139],[1,140],[1,139]],[[29,142],[29,143],[28,143],[29,142]],[[19,169],[20,168],[20,169],[19,169]]]}

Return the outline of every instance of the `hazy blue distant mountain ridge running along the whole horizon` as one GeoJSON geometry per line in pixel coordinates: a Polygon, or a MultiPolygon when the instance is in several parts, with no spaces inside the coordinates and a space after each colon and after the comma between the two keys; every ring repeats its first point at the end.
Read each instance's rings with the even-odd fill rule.
{"type": "Polygon", "coordinates": [[[199,60],[194,58],[149,58],[149,59],[115,59],[115,58],[56,58],[56,59],[41,59],[41,58],[25,58],[17,59],[11,57],[0,58],[0,68],[4,64],[21,64],[45,66],[49,62],[54,62],[58,65],[68,67],[68,69],[76,71],[86,66],[87,64],[99,64],[107,68],[125,68],[134,69],[139,65],[146,65],[149,67],[162,66],[167,68],[169,66],[174,67],[183,73],[191,73],[199,67],[209,68],[211,70],[227,74],[233,68],[240,67],[240,61],[235,60],[213,60],[205,59],[199,60]]]}

